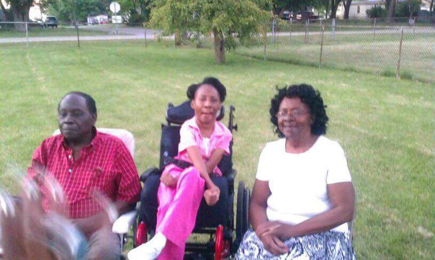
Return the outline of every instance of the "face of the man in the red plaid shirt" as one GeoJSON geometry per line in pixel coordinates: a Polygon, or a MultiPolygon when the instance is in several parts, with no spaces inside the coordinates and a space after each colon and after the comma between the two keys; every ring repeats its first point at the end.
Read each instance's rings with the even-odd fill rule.
{"type": "Polygon", "coordinates": [[[60,101],[57,112],[60,133],[68,141],[80,142],[84,137],[92,135],[97,115],[89,112],[84,97],[67,95],[60,101]]]}

